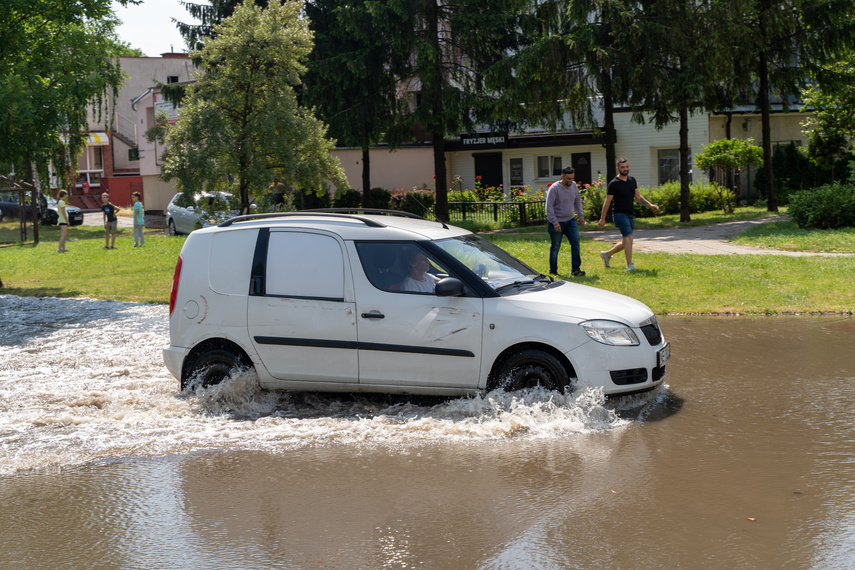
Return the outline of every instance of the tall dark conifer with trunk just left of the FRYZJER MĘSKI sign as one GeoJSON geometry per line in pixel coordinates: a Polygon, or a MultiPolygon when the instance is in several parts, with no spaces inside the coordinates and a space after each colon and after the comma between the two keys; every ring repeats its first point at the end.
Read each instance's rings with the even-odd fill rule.
{"type": "MultiPolygon", "coordinates": [[[[409,125],[433,145],[436,216],[448,219],[445,139],[494,121],[485,72],[517,49],[525,0],[366,0],[374,26],[401,54],[389,72],[408,98],[409,125]]],[[[369,38],[370,39],[370,38],[369,38]]]]}

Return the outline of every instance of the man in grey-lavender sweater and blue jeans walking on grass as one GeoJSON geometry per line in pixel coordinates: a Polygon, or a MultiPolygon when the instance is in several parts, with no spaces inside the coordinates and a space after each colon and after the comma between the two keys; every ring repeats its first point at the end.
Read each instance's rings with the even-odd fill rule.
{"type": "Polygon", "coordinates": [[[570,242],[570,274],[574,277],[585,275],[582,271],[582,250],[579,246],[578,216],[582,226],[585,215],[582,211],[582,197],[576,187],[576,171],[565,166],[561,171],[561,180],[549,187],[546,192],[546,229],[549,231],[549,273],[558,275],[558,252],[561,250],[561,238],[567,236],[570,242]]]}

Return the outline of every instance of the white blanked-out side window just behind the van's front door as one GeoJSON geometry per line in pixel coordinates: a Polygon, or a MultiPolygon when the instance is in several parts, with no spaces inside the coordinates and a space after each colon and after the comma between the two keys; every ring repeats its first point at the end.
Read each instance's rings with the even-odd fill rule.
{"type": "Polygon", "coordinates": [[[270,232],[265,292],[280,297],[343,300],[344,255],[339,242],[320,234],[270,232]]]}

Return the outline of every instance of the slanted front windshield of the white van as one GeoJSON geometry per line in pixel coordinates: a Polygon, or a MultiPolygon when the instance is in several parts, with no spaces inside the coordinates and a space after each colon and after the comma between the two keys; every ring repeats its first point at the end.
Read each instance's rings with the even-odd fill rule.
{"type": "Polygon", "coordinates": [[[497,291],[546,279],[507,251],[477,235],[438,240],[434,244],[497,291]]]}

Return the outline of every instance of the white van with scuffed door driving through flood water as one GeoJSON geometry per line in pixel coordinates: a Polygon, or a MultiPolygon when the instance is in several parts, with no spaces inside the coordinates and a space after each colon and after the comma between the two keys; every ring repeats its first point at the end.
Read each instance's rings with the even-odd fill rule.
{"type": "Polygon", "coordinates": [[[662,382],[670,345],[640,301],[397,214],[258,214],[190,234],[163,351],[182,389],[239,367],[292,391],[624,394],[662,382]],[[413,291],[408,276],[433,286],[413,291]]]}

